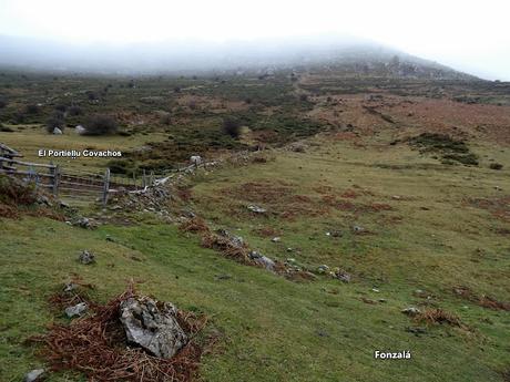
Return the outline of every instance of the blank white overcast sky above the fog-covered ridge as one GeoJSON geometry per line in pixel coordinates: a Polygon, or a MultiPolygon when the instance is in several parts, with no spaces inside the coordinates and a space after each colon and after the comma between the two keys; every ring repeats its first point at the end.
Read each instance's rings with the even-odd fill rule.
{"type": "Polygon", "coordinates": [[[0,34],[91,42],[355,35],[510,81],[509,0],[0,0],[0,34]]]}

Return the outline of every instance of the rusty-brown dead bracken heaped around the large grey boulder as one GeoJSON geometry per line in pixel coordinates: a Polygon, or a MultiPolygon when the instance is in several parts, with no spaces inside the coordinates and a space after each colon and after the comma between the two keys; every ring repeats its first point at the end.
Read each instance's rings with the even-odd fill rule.
{"type": "Polygon", "coordinates": [[[89,381],[192,381],[205,348],[212,345],[212,340],[197,340],[207,319],[176,310],[187,342],[174,357],[159,358],[129,344],[120,308],[134,298],[139,297],[130,286],[110,302],[92,304],[91,314],[70,324],[52,324],[45,335],[34,338],[42,344],[39,353],[50,370],[82,372],[89,381]]]}

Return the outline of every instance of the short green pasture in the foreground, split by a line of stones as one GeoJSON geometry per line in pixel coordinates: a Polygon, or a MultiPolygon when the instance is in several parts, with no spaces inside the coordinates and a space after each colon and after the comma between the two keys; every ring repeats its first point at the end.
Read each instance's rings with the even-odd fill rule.
{"type": "Polygon", "coordinates": [[[508,311],[455,290],[509,300],[510,152],[471,142],[480,166],[441,164],[406,142],[389,144],[405,133],[319,135],[305,152],[278,149],[266,163],[188,179],[188,208],[212,227],[282,261],[340,267],[349,283],[296,282],[239,265],[146,214],[123,211],[131,224],[96,230],[0,219],[0,380],[42,364],[24,341],[65,321],[47,299],[79,275],[99,301],[134,279],[144,293],[207,314],[220,342],[203,359],[204,381],[504,381],[508,311]],[[486,155],[503,169],[489,169],[486,155]],[[268,214],[253,215],[253,204],[268,214]],[[98,264],[80,265],[81,249],[98,264]],[[400,312],[411,306],[440,308],[461,326],[415,322],[400,312]],[[412,358],[375,360],[375,350],[412,358]]]}

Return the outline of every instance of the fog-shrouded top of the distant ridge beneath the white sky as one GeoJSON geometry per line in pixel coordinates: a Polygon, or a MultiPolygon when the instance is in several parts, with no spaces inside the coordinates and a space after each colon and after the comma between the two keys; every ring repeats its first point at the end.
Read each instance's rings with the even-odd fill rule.
{"type": "Polygon", "coordinates": [[[125,75],[318,70],[344,75],[478,80],[370,41],[337,37],[228,43],[167,41],[76,45],[0,35],[0,65],[31,71],[125,75]]]}

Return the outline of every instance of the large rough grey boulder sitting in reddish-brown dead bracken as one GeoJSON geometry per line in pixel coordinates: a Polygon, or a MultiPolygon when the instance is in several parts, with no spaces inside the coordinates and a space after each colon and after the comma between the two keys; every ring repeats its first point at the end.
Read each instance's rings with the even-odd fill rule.
{"type": "Polygon", "coordinates": [[[172,358],[187,342],[172,303],[149,297],[129,298],[121,302],[120,313],[128,341],[156,357],[172,358]]]}

